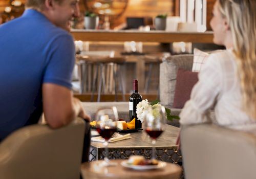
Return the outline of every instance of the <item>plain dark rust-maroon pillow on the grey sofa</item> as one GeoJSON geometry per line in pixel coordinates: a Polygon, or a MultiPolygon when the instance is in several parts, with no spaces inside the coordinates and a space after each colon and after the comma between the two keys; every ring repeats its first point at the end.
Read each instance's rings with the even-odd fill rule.
{"type": "Polygon", "coordinates": [[[186,101],[190,99],[191,90],[197,81],[197,72],[191,72],[183,69],[178,70],[174,94],[174,108],[184,107],[186,101]]]}

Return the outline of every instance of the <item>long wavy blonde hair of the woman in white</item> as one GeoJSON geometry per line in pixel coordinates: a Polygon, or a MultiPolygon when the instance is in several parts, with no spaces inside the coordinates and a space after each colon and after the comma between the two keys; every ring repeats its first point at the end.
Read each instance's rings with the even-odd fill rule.
{"type": "Polygon", "coordinates": [[[256,1],[219,0],[219,9],[232,34],[243,110],[249,117],[256,119],[256,1]]]}

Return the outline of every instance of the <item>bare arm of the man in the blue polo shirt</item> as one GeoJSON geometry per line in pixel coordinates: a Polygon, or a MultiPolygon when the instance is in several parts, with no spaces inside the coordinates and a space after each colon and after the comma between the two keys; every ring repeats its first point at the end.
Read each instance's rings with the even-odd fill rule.
{"type": "Polygon", "coordinates": [[[81,102],[73,98],[67,87],[53,84],[42,84],[42,104],[47,123],[52,128],[69,124],[77,116],[90,121],[81,102]]]}

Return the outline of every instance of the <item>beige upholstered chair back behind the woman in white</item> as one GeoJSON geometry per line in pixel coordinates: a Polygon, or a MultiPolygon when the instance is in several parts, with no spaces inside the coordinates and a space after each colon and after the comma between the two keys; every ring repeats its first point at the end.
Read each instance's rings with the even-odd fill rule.
{"type": "Polygon", "coordinates": [[[256,130],[182,126],[181,150],[186,179],[256,178],[256,130]]]}

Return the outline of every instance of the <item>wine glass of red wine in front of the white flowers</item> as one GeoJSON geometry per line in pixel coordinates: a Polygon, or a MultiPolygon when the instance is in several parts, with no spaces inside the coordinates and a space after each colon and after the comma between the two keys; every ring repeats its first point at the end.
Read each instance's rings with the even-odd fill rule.
{"type": "Polygon", "coordinates": [[[150,106],[144,116],[144,130],[152,139],[152,159],[156,159],[156,139],[162,134],[165,127],[165,108],[150,106]]]}

